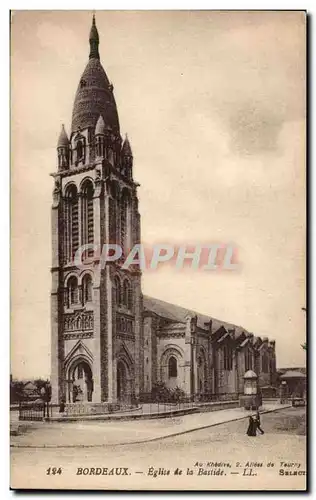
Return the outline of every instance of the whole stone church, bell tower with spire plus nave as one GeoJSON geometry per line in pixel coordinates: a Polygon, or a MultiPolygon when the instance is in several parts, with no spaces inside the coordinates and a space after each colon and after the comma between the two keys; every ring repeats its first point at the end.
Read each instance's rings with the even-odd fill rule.
{"type": "Polygon", "coordinates": [[[94,18],[89,44],[70,135],[63,126],[52,174],[52,400],[128,402],[158,382],[187,395],[221,397],[242,392],[249,369],[259,385],[274,385],[274,341],[146,297],[139,267],[122,268],[128,249],[140,242],[138,185],[94,18]],[[89,245],[106,243],[120,244],[123,255],[99,266],[89,245]],[[85,245],[79,268],[74,257],[85,245]]]}

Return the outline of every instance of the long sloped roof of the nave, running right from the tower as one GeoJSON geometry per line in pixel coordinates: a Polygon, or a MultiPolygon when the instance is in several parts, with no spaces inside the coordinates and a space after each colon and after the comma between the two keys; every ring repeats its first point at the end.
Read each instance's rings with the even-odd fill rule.
{"type": "Polygon", "coordinates": [[[213,318],[212,316],[206,316],[205,314],[200,314],[192,309],[186,309],[184,307],[171,304],[170,302],[165,302],[164,300],[155,299],[144,295],[144,309],[145,311],[153,312],[158,316],[167,318],[171,321],[177,323],[185,323],[186,316],[197,316],[197,326],[203,330],[208,330],[205,323],[209,323],[212,320],[212,331],[215,332],[221,326],[224,326],[226,330],[235,329],[236,337],[241,335],[242,332],[248,333],[247,330],[240,326],[232,325],[231,323],[226,323],[226,321],[221,321],[219,319],[213,318]]]}

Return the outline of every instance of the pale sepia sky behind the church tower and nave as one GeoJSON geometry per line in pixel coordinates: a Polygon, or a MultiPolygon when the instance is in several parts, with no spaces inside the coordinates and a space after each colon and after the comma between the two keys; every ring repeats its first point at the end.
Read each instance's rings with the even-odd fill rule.
{"type": "MultiPolygon", "coordinates": [[[[11,372],[50,374],[50,209],[91,12],[11,25],[11,372]]],[[[142,240],[231,243],[238,271],[144,272],[143,293],[276,341],[304,366],[305,17],[97,11],[100,56],[134,155],[142,240]]]]}

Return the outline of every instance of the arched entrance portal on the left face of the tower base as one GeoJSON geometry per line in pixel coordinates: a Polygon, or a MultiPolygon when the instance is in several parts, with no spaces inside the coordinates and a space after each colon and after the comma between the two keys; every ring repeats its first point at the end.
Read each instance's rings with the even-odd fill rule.
{"type": "Polygon", "coordinates": [[[92,370],[87,361],[79,361],[70,369],[71,391],[70,402],[92,401],[93,379],[92,370]]]}

